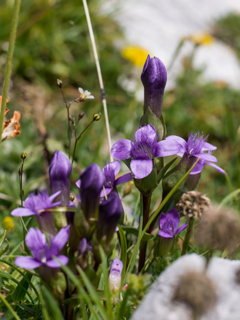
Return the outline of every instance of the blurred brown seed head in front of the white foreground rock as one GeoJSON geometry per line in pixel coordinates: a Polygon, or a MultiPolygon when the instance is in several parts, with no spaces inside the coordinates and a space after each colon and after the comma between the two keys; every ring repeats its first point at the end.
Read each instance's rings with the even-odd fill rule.
{"type": "Polygon", "coordinates": [[[195,315],[202,315],[214,306],[217,294],[204,272],[189,271],[179,279],[173,299],[188,304],[195,315]]]}

